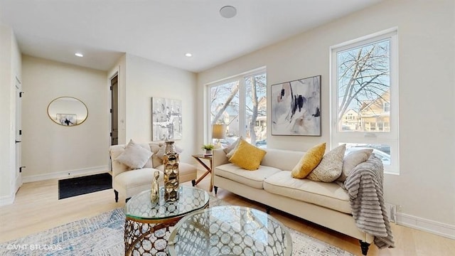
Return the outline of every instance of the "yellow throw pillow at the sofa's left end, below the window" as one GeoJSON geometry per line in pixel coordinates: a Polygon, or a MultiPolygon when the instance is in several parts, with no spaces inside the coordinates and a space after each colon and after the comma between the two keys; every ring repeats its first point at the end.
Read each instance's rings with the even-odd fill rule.
{"type": "Polygon", "coordinates": [[[259,164],[261,164],[261,161],[266,153],[266,151],[258,149],[256,146],[240,139],[237,150],[231,156],[229,161],[232,164],[242,167],[243,169],[253,171],[259,168],[259,164]]]}

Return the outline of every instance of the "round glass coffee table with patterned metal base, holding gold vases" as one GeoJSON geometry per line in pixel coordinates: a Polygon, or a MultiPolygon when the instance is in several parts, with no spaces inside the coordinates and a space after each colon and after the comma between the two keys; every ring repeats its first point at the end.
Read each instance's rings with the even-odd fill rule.
{"type": "Polygon", "coordinates": [[[125,255],[167,255],[171,228],[188,213],[208,207],[207,191],[181,186],[178,193],[174,202],[164,201],[164,187],[157,203],[151,203],[151,190],[129,199],[124,207],[125,255]]]}

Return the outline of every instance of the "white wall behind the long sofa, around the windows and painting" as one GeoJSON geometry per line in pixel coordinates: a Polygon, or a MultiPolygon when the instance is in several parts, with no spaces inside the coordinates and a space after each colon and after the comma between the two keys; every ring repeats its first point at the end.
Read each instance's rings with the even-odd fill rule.
{"type": "MultiPolygon", "coordinates": [[[[198,130],[203,130],[206,83],[265,65],[269,87],[322,75],[322,136],[271,136],[268,130],[267,146],[306,150],[330,142],[330,46],[397,27],[400,176],[385,175],[386,201],[400,206],[402,224],[455,238],[454,9],[452,0],[384,1],[199,73],[198,130]]],[[[203,134],[198,133],[198,143],[202,142],[203,134]]]]}

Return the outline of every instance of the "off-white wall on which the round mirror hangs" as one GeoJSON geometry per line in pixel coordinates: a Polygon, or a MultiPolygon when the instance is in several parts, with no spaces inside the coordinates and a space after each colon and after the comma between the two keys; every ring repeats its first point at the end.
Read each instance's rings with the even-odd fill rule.
{"type": "Polygon", "coordinates": [[[109,94],[107,73],[23,55],[24,181],[107,171],[109,94]],[[57,97],[85,103],[88,117],[80,125],[55,124],[47,114],[57,97]]]}

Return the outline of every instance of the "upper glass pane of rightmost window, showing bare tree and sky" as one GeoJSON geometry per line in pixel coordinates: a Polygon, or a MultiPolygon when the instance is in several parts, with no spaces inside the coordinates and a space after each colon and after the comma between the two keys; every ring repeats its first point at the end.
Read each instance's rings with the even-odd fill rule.
{"type": "Polygon", "coordinates": [[[375,124],[390,119],[390,41],[340,51],[337,61],[338,130],[378,132],[375,124]],[[357,114],[355,122],[343,122],[346,114],[357,114]]]}

